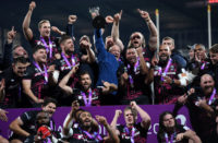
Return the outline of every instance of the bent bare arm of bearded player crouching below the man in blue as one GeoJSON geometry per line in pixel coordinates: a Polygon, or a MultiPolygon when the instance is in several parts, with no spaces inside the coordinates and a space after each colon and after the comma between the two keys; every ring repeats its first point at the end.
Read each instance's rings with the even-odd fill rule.
{"type": "Polygon", "coordinates": [[[59,83],[59,86],[68,94],[68,95],[71,95],[73,94],[73,90],[71,86],[68,86],[68,82],[69,82],[69,79],[71,78],[72,74],[75,74],[75,72],[77,71],[78,69],[78,64],[74,65],[72,68],[72,70],[60,81],[59,83]]]}

